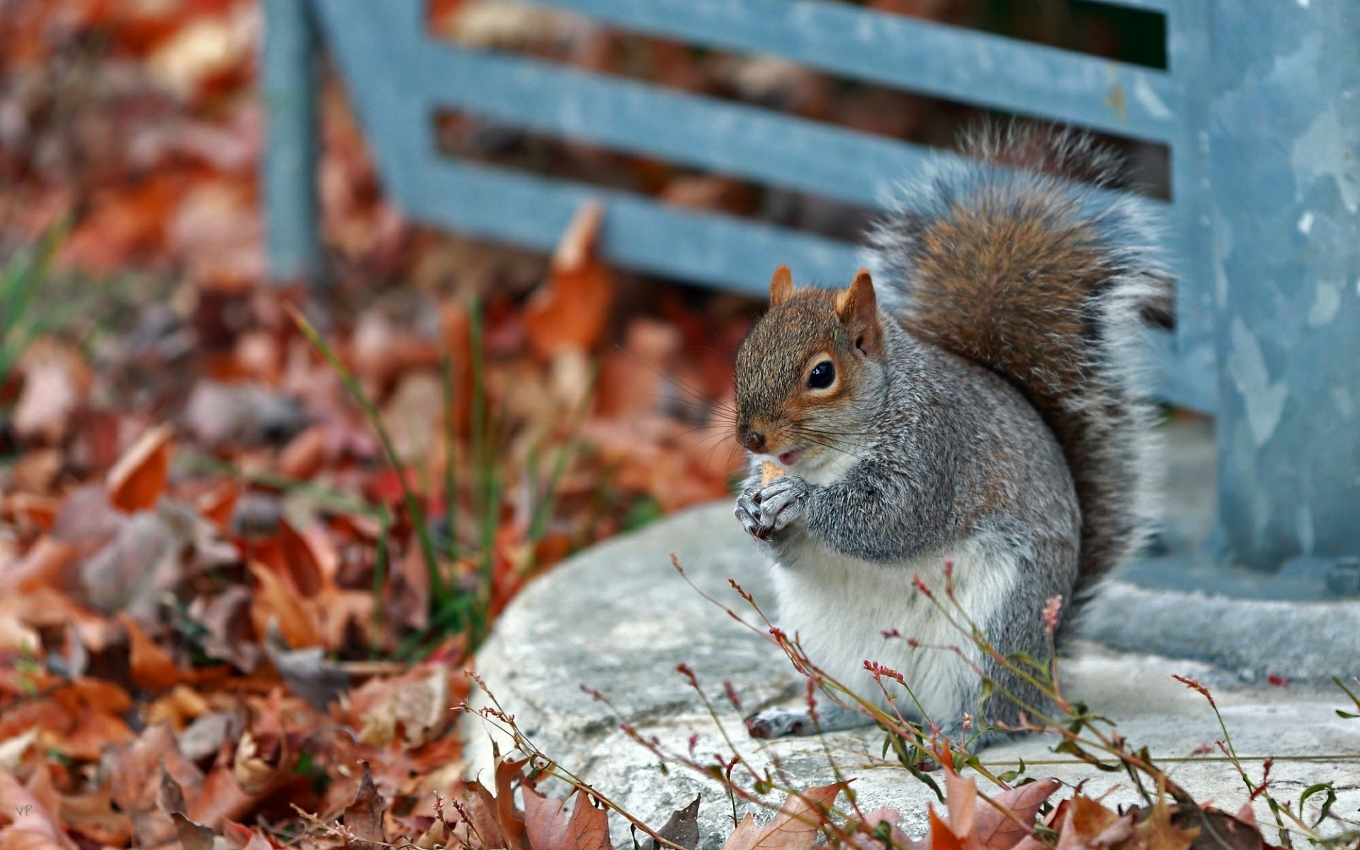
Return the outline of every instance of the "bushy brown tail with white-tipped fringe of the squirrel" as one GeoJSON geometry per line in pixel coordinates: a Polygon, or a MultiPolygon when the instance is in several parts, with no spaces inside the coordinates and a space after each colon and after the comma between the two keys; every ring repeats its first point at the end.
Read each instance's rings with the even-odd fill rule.
{"type": "Polygon", "coordinates": [[[1081,505],[1070,613],[1149,525],[1138,337],[1170,313],[1171,277],[1144,203],[1102,190],[1121,163],[1088,136],[1012,126],[970,147],[1006,167],[941,166],[902,194],[874,233],[881,301],[918,339],[1004,375],[1053,428],[1081,505]]]}

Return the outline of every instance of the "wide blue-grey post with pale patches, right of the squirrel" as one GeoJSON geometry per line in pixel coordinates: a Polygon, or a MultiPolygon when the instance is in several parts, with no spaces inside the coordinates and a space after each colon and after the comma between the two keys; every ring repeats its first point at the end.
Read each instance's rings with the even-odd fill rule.
{"type": "Polygon", "coordinates": [[[1360,555],[1360,5],[1213,0],[1212,35],[1229,555],[1360,555]]]}

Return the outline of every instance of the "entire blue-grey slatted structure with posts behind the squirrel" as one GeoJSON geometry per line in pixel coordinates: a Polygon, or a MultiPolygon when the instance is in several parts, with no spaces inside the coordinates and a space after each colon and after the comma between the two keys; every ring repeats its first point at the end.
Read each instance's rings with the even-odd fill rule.
{"type": "MultiPolygon", "coordinates": [[[[1164,15],[1167,71],[827,0],[554,5],[632,31],[1166,144],[1176,330],[1151,343],[1163,396],[1219,418],[1224,552],[1270,568],[1289,558],[1357,555],[1360,14],[1353,0],[1108,1],[1164,15]]],[[[456,109],[869,208],[928,159],[948,156],[437,41],[420,0],[265,0],[265,197],[272,272],[284,280],[314,276],[321,262],[313,181],[322,41],[386,192],[413,218],[549,249],[577,208],[600,199],[611,261],[756,295],[779,264],[800,279],[840,283],[862,256],[824,237],[446,158],[435,150],[435,113],[456,109]]]]}

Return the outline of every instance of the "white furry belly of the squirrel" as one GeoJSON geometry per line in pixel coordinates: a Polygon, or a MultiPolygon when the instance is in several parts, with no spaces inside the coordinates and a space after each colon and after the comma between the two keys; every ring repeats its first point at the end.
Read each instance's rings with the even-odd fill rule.
{"type": "Polygon", "coordinates": [[[944,563],[953,564],[959,607],[986,630],[1019,575],[1016,554],[1001,539],[979,534],[947,552],[891,564],[847,558],[815,543],[798,549],[783,559],[787,563],[774,564],[772,577],[779,626],[798,636],[813,664],[880,707],[887,700],[865,670],[865,660],[902,673],[915,699],[888,679],[884,684],[906,717],[921,719],[917,702],[930,721],[945,726],[964,713],[976,714],[981,676],[959,653],[937,649],[957,646],[970,660],[979,654],[945,616],[967,628],[945,596],[944,563]],[[914,575],[921,575],[934,602],[917,590],[914,575]],[[900,638],[884,638],[892,630],[900,638]],[[921,646],[910,646],[907,638],[921,646]]]}

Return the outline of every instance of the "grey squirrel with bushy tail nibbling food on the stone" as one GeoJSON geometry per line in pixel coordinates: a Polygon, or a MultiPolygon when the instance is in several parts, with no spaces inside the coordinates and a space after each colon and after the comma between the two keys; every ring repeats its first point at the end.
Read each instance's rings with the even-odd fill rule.
{"type": "MultiPolygon", "coordinates": [[[[1144,203],[1108,190],[1122,165],[1089,136],[1012,126],[968,147],[972,162],[937,166],[870,233],[873,275],[830,291],[774,272],[736,360],[751,458],[736,515],[813,664],[887,710],[865,664],[880,662],[910,687],[892,699],[904,717],[986,747],[1047,700],[915,577],[945,608],[952,582],[1002,656],[1047,657],[1054,597],[1070,632],[1149,528],[1140,335],[1171,276],[1144,203]],[[764,464],[785,475],[763,481],[764,464]],[[951,645],[963,651],[926,649],[951,645]],[[985,704],[978,669],[997,685],[985,704]]],[[[816,722],[747,718],[755,737],[868,724],[836,700],[816,722]]]]}

